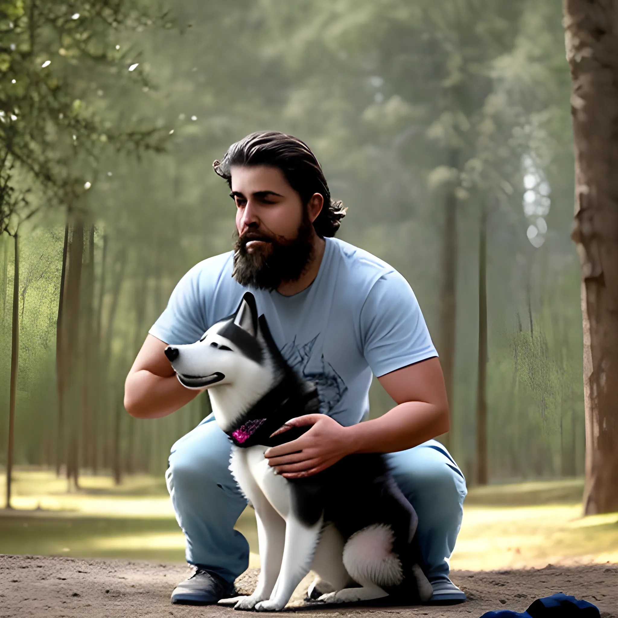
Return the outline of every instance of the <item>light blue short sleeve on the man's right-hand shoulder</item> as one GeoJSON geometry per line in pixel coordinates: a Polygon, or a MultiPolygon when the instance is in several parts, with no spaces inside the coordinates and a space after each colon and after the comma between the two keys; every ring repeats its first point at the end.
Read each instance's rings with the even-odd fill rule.
{"type": "Polygon", "coordinates": [[[375,376],[438,356],[412,288],[397,271],[373,284],[360,312],[365,360],[375,376]]]}

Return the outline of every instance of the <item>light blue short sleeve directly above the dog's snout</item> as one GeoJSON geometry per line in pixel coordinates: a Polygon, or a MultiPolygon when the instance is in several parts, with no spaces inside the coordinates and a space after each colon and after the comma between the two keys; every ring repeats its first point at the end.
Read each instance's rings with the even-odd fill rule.
{"type": "MultiPolygon", "coordinates": [[[[203,264],[193,266],[178,282],[167,307],[150,329],[150,334],[166,344],[192,344],[208,330],[205,315],[203,264]]],[[[207,287],[207,286],[206,286],[207,287]]]]}

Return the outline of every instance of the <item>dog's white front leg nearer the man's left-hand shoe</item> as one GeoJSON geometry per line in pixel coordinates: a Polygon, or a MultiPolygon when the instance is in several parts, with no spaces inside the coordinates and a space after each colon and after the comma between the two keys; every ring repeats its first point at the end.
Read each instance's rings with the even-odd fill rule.
{"type": "Polygon", "coordinates": [[[260,546],[260,575],[258,585],[250,596],[237,596],[221,599],[221,605],[234,605],[234,609],[253,609],[256,603],[268,599],[281,570],[281,561],[286,538],[286,522],[273,509],[271,504],[260,496],[255,507],[258,525],[258,544],[260,546]]]}

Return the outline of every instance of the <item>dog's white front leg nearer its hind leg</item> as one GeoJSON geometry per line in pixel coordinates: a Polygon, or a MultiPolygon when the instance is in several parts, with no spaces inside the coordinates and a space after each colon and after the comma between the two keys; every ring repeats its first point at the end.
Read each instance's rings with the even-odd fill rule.
{"type": "Polygon", "coordinates": [[[323,517],[313,525],[303,523],[292,512],[286,520],[286,544],[277,583],[268,601],[256,604],[255,609],[270,612],[283,609],[296,586],[311,569],[313,556],[320,541],[323,517]]]}

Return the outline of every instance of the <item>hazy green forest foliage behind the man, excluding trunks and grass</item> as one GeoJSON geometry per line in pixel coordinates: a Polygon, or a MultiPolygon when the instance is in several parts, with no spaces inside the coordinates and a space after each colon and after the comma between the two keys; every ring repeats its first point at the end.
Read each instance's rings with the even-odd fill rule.
{"type": "MultiPolygon", "coordinates": [[[[442,206],[444,192],[455,192],[458,335],[451,450],[465,472],[475,460],[478,213],[491,198],[490,470],[494,478],[582,472],[582,327],[577,256],[569,239],[572,135],[559,3],[182,0],[174,4],[174,28],[153,27],[171,19],[155,19],[156,11],[144,18],[135,3],[101,0],[88,9],[78,4],[69,10],[63,3],[41,3],[49,20],[41,18],[35,30],[35,51],[28,46],[30,18],[11,18],[12,29],[8,17],[0,19],[0,53],[10,60],[0,72],[0,109],[6,115],[17,105],[20,111],[18,121],[0,122],[0,132],[32,127],[20,147],[37,165],[49,155],[33,169],[53,178],[48,182],[43,174],[42,184],[32,183],[35,172],[17,169],[9,159],[0,172],[1,179],[9,173],[14,179],[9,185],[0,180],[0,187],[14,190],[4,203],[27,198],[28,208],[39,213],[37,225],[53,231],[36,232],[32,248],[22,237],[22,272],[32,272],[33,282],[25,294],[21,352],[25,359],[30,350],[34,360],[20,366],[20,384],[28,389],[20,392],[17,411],[18,423],[24,423],[17,435],[21,462],[55,461],[57,410],[49,397],[55,339],[41,299],[57,299],[59,262],[34,279],[43,246],[61,259],[64,221],[41,219],[40,211],[70,203],[88,214],[85,222],[96,224],[88,298],[96,354],[107,359],[89,370],[96,386],[97,465],[111,467],[118,431],[127,469],[160,472],[174,439],[208,412],[208,404],[200,397],[171,417],[137,421],[122,412],[124,376],[180,276],[231,247],[234,211],[211,162],[250,131],[279,129],[313,148],[333,196],[349,206],[339,236],[407,277],[436,341],[442,206]],[[109,11],[117,17],[109,18],[109,11]],[[18,75],[28,84],[22,94],[18,75]],[[32,100],[19,98],[29,95],[32,100]],[[31,120],[43,104],[48,111],[31,120]],[[165,153],[143,152],[139,162],[129,156],[125,138],[159,150],[159,137],[172,129],[165,153]],[[526,236],[533,221],[523,211],[524,156],[551,186],[540,248],[526,236]],[[56,277],[53,290],[44,287],[48,276],[56,277]],[[510,334],[517,313],[528,315],[528,290],[534,343],[529,328],[510,334]],[[569,382],[572,394],[564,386],[569,382]],[[39,431],[41,405],[49,424],[41,421],[39,431]]],[[[23,15],[29,6],[23,4],[23,15]]],[[[1,58],[5,66],[9,61],[1,58]]],[[[26,206],[17,210],[30,212],[26,206]]],[[[0,250],[0,266],[2,255],[0,250]]],[[[10,294],[7,304],[10,311],[10,294]]],[[[7,321],[3,333],[5,384],[7,321]]],[[[376,387],[371,405],[378,415],[392,402],[376,387]]],[[[86,461],[90,447],[82,450],[86,461]]]]}

